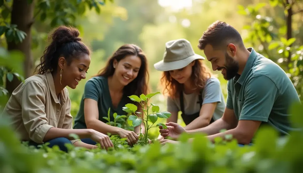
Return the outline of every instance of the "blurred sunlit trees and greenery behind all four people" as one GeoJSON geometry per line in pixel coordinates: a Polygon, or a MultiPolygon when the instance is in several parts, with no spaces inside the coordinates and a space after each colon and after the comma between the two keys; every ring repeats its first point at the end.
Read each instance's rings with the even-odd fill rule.
{"type": "MultiPolygon", "coordinates": [[[[198,39],[216,20],[234,26],[246,47],[254,47],[283,68],[302,99],[302,0],[0,0],[0,16],[0,57],[6,50],[12,53],[11,59],[6,58],[9,64],[0,63],[2,105],[23,78],[33,75],[48,44],[48,33],[58,25],[77,27],[93,51],[87,78],[75,90],[68,88],[75,116],[85,82],[119,46],[134,43],[144,50],[151,90],[161,92],[161,72],[153,64],[162,59],[165,42],[188,39],[195,52],[204,56],[197,48],[198,39]],[[23,59],[17,61],[19,56],[13,50],[22,52],[23,59]]],[[[213,73],[226,96],[226,81],[220,73],[213,73]]],[[[153,103],[166,109],[164,96],[155,97],[153,103]]]]}

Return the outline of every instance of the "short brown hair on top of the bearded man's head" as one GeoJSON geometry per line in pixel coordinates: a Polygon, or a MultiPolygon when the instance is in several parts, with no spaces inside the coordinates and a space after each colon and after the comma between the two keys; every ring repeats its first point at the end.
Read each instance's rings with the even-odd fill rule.
{"type": "Polygon", "coordinates": [[[216,21],[208,26],[207,30],[199,39],[198,48],[203,50],[206,45],[210,44],[214,49],[222,49],[229,43],[239,45],[245,48],[240,33],[231,25],[223,21],[216,21]]]}

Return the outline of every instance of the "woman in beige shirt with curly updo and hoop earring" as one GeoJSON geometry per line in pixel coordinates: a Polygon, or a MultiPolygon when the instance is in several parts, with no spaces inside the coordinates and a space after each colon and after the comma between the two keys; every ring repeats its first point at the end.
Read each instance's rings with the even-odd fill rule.
{"type": "Polygon", "coordinates": [[[99,142],[102,148],[113,147],[105,134],[93,129],[72,129],[71,100],[65,87],[75,89],[85,79],[91,62],[90,51],[78,36],[75,28],[58,27],[36,67],[38,74],[25,79],[5,105],[2,117],[12,120],[21,140],[29,141],[29,145],[49,142],[49,147],[58,145],[65,152],[65,144],[97,148],[70,137],[76,134],[89,143],[99,142]]]}

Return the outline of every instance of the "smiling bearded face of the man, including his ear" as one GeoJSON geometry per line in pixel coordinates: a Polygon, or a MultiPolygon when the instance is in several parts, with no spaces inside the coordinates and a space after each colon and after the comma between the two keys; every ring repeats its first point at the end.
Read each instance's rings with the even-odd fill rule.
{"type": "Polygon", "coordinates": [[[222,51],[214,50],[213,47],[208,44],[204,48],[204,54],[207,60],[211,62],[212,70],[221,71],[225,80],[230,80],[235,77],[239,70],[239,63],[232,57],[235,57],[236,54],[235,45],[232,45],[232,47],[231,49],[228,47],[228,50],[222,51]]]}

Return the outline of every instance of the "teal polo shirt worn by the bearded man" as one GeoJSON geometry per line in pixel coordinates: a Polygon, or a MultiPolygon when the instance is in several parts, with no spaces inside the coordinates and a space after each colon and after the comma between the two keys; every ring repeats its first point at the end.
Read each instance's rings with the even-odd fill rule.
{"type": "Polygon", "coordinates": [[[233,109],[237,120],[262,121],[289,135],[289,108],[298,93],[283,69],[270,59],[248,48],[248,57],[241,75],[227,83],[226,107],[233,109]]]}

